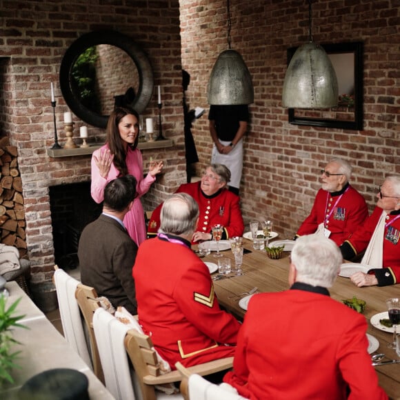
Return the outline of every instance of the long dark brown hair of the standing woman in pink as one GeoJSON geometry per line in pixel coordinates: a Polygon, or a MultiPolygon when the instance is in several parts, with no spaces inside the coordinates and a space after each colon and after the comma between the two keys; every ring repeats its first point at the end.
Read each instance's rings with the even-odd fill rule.
{"type": "MultiPolygon", "coordinates": [[[[126,115],[134,115],[137,117],[137,121],[139,123],[139,114],[133,108],[127,107],[117,107],[112,111],[110,118],[107,123],[107,136],[106,142],[108,143],[108,147],[110,148],[110,152],[114,154],[114,166],[121,172],[122,175],[128,174],[128,168],[126,166],[126,151],[123,148],[123,143],[121,141],[121,136],[119,135],[118,124],[126,115]]],[[[137,143],[139,141],[139,134],[137,135],[136,140],[130,148],[134,150],[137,148],[137,143]]]]}

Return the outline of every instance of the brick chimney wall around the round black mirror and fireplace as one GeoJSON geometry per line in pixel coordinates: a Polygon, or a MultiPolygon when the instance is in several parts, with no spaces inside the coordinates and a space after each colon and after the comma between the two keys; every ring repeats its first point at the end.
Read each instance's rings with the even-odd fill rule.
{"type": "MultiPolygon", "coordinates": [[[[131,37],[148,54],[156,89],[161,85],[163,134],[177,146],[143,150],[145,164],[150,155],[166,160],[165,174],[145,201],[155,206],[157,197],[172,190],[170,180],[172,185],[185,180],[179,2],[0,0],[0,10],[0,136],[10,137],[19,151],[32,280],[43,281],[50,279],[54,266],[49,187],[90,181],[90,156],[46,154],[54,143],[50,82],[55,86],[57,132],[63,144],[63,112],[68,107],[59,89],[59,68],[68,46],[81,34],[113,29],[131,37]]],[[[158,117],[157,90],[143,117],[158,117]]],[[[73,119],[74,135],[79,136],[79,126],[86,123],[73,119]]],[[[104,130],[89,127],[88,141],[102,143],[104,137],[104,130]]]]}

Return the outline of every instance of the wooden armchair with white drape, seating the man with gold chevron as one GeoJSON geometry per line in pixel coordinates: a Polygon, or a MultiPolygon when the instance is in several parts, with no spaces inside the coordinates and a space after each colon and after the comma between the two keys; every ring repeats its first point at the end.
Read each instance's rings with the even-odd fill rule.
{"type": "MultiPolygon", "coordinates": [[[[156,390],[156,386],[181,381],[181,374],[177,370],[162,373],[151,338],[139,332],[139,323],[134,322],[133,325],[135,329],[103,309],[96,310],[94,314],[94,332],[99,341],[108,390],[118,400],[135,399],[133,392],[143,400],[183,399],[181,394],[165,394],[156,390]],[[129,359],[133,372],[130,372],[129,359]]],[[[232,362],[233,357],[228,357],[188,370],[202,375],[212,374],[231,368],[232,362]]]]}

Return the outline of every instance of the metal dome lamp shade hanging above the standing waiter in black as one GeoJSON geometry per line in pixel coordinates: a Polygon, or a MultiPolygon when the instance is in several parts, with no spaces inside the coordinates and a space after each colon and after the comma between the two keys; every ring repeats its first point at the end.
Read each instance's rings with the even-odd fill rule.
{"type": "Polygon", "coordinates": [[[254,102],[250,72],[237,51],[225,50],[219,54],[208,81],[207,99],[209,104],[218,106],[254,102]]]}

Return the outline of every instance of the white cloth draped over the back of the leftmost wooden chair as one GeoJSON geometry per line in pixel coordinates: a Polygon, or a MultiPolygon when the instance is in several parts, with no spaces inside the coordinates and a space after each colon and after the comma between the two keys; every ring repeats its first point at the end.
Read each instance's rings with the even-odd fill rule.
{"type": "Polygon", "coordinates": [[[59,303],[64,337],[79,354],[81,359],[93,369],[88,342],[83,330],[84,321],[79,311],[77,299],[75,298],[75,291],[80,282],[58,266],[54,266],[54,270],[52,280],[57,290],[57,301],[59,303]]]}

